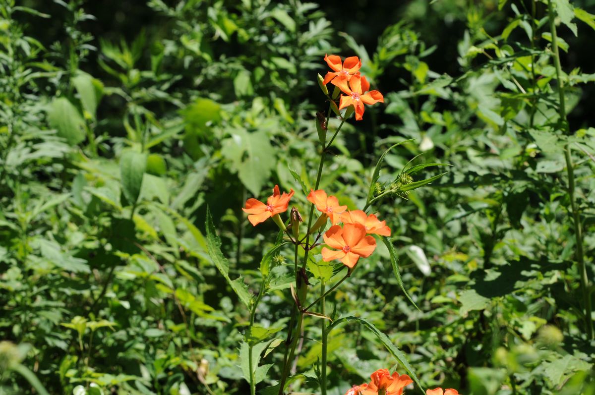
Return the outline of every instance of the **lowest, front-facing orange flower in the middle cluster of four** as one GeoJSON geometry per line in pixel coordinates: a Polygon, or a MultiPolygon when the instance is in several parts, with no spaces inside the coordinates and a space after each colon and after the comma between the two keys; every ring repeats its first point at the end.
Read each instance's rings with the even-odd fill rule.
{"type": "Polygon", "coordinates": [[[366,228],[360,224],[345,224],[343,228],[331,226],[322,237],[329,247],[338,250],[322,247],[322,260],[328,262],[339,259],[350,269],[355,267],[359,257],[367,258],[376,248],[376,240],[366,236],[366,228]]]}

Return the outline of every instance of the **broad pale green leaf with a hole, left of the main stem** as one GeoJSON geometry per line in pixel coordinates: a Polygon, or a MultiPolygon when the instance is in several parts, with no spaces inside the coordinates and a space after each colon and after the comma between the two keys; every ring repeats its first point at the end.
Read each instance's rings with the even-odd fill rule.
{"type": "Polygon", "coordinates": [[[234,129],[230,134],[221,142],[221,153],[252,195],[258,195],[275,167],[275,150],[264,130],[248,133],[234,129]]]}

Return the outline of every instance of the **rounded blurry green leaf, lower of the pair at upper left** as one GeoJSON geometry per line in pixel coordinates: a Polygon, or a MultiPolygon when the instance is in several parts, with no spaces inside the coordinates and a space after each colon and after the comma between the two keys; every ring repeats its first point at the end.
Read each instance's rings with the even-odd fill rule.
{"type": "Polygon", "coordinates": [[[84,140],[86,124],[79,110],[67,98],[57,98],[48,107],[49,126],[71,145],[84,140]]]}

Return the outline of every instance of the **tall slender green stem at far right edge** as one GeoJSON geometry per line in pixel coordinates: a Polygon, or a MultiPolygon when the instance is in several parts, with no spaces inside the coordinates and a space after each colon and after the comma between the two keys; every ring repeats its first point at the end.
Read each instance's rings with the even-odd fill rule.
{"type": "MultiPolygon", "coordinates": [[[[560,121],[563,123],[563,128],[566,133],[569,132],[568,121],[566,120],[566,106],[564,100],[564,81],[562,80],[562,67],[560,66],[560,54],[558,51],[558,34],[556,32],[555,14],[552,7],[552,0],[547,4],[549,12],[550,30],[552,32],[552,49],[554,56],[554,64],[556,66],[556,79],[558,79],[558,95],[559,95],[559,113],[560,121]]],[[[587,338],[593,339],[593,319],[591,318],[591,297],[589,292],[589,284],[587,277],[587,269],[585,268],[584,252],[583,252],[583,228],[581,226],[581,217],[578,212],[577,202],[574,199],[574,164],[572,163],[572,156],[570,145],[566,144],[564,148],[564,157],[566,159],[566,171],[568,173],[568,197],[572,208],[572,220],[574,222],[574,237],[577,243],[576,258],[578,262],[578,271],[580,275],[581,293],[583,293],[583,302],[585,308],[585,326],[587,329],[587,338]]]]}

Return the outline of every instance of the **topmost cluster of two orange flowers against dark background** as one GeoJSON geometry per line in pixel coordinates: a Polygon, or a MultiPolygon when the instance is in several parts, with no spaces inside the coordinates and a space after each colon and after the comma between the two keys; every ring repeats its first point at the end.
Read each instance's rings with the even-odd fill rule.
{"type": "Polygon", "coordinates": [[[366,77],[359,73],[362,61],[358,57],[349,57],[341,62],[341,58],[337,55],[326,55],[324,60],[333,71],[327,73],[322,84],[326,86],[330,82],[345,93],[341,95],[339,109],[353,106],[355,120],[361,121],[365,110],[364,104],[384,103],[382,93],[377,90],[368,92],[370,84],[366,77]]]}

